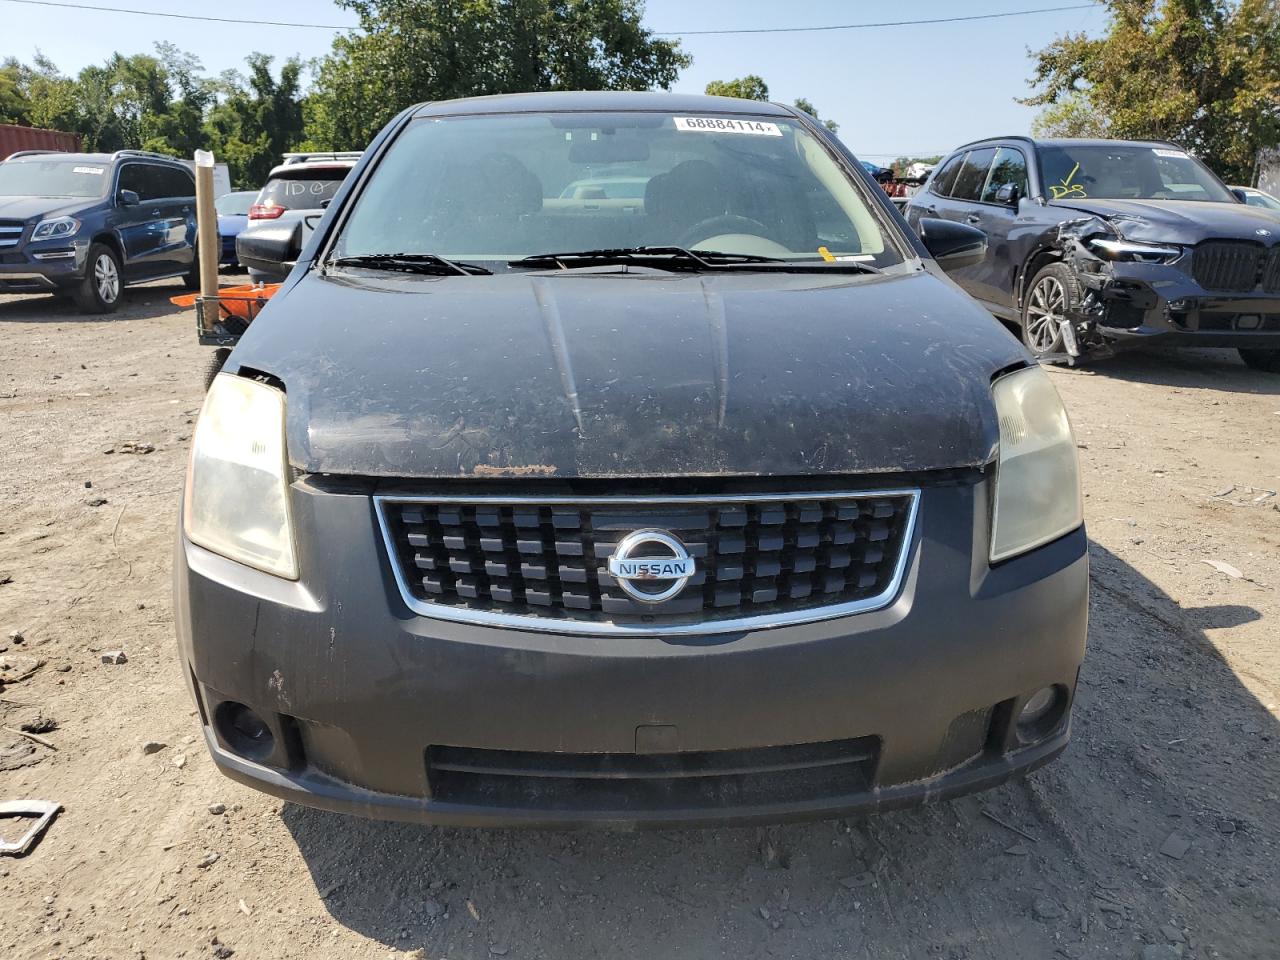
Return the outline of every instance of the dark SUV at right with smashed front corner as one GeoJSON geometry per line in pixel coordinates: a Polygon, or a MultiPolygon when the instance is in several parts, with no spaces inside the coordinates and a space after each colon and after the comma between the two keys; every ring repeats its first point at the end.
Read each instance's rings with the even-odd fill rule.
{"type": "Polygon", "coordinates": [[[1000,137],[960,147],[908,220],[988,237],[955,280],[1050,360],[1236,347],[1280,372],[1280,215],[1174,143],[1000,137]]]}

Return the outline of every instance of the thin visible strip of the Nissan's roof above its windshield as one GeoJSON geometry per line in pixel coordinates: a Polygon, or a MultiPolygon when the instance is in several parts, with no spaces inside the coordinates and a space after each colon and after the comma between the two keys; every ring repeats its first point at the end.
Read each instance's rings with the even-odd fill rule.
{"type": "Polygon", "coordinates": [[[695,93],[654,93],[648,91],[557,91],[545,93],[502,93],[461,100],[438,100],[419,104],[413,116],[456,116],[466,114],[506,113],[607,113],[611,110],[641,110],[660,113],[722,113],[756,114],[764,116],[795,116],[795,111],[782,104],[737,97],[712,97],[695,93]]]}

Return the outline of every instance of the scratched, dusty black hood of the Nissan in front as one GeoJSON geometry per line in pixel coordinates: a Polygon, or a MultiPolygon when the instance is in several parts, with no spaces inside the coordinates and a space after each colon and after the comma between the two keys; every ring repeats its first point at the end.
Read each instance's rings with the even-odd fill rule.
{"type": "Polygon", "coordinates": [[[300,470],[819,475],[987,463],[1028,355],[948,280],[308,274],[232,365],[278,376],[300,470]],[[370,278],[370,279],[366,279],[370,278]]]}

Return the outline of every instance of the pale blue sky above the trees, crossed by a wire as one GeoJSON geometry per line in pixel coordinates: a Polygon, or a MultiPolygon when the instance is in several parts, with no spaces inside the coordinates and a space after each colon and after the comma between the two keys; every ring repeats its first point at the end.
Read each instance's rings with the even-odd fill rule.
{"type": "MultiPolygon", "coordinates": [[[[1084,0],[915,0],[910,4],[810,0],[648,0],[645,26],[657,32],[803,27],[928,19],[1060,6],[1084,0]]],[[[329,0],[83,0],[104,6],[242,17],[315,24],[353,24],[329,0]]],[[[1056,36],[1105,28],[1105,9],[1065,10],[970,23],[915,24],[820,33],[686,36],[694,64],[676,86],[700,93],[708,81],[759,74],[774,100],[809,99],[863,159],[943,154],[979,137],[1027,133],[1036,110],[1028,93],[1028,50],[1056,36]]],[[[151,52],[172,41],[210,74],[239,67],[246,54],[303,58],[328,52],[332,29],[195,23],[124,13],[28,6],[0,0],[0,59],[42,51],[64,72],[113,51],[151,52]]]]}

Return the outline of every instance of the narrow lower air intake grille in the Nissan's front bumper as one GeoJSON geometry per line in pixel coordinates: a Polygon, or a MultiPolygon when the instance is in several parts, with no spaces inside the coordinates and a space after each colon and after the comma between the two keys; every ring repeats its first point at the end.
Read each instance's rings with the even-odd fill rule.
{"type": "Polygon", "coordinates": [[[746,750],[561,754],[431,746],[431,799],[470,806],[726,810],[852,796],[870,788],[877,737],[746,750]]]}

